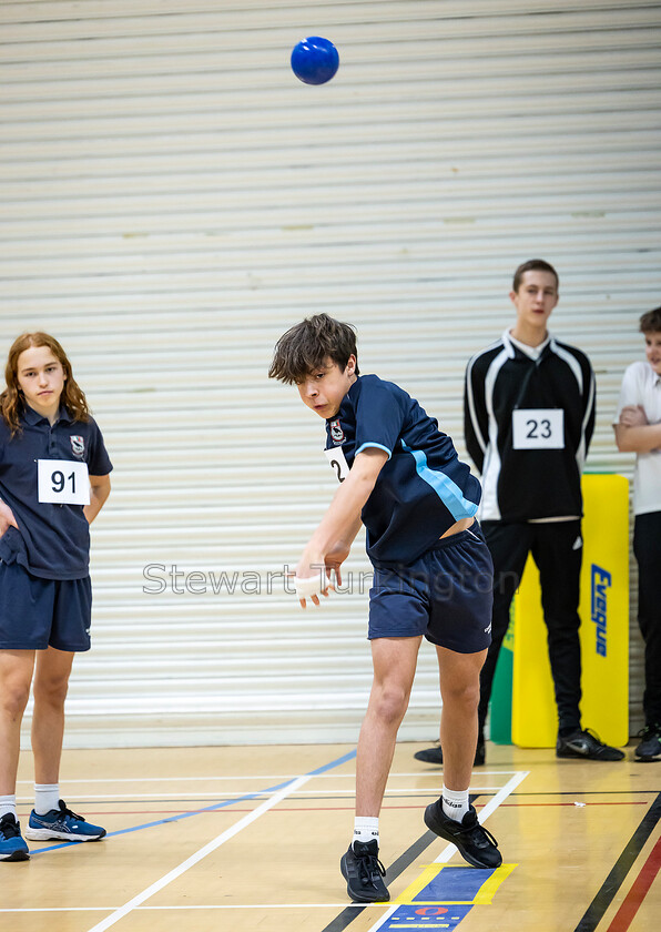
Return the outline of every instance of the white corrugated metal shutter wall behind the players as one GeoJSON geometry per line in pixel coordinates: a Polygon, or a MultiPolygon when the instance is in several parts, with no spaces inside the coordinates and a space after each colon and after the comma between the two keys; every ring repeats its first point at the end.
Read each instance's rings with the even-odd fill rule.
{"type": "MultiPolygon", "coordinates": [[[[70,743],[356,737],[366,594],[267,591],[335,488],[323,425],[266,378],[311,312],[462,452],[465,363],[542,255],[597,369],[588,467],[630,475],[610,419],[659,303],[660,27],[608,0],[0,6],[2,340],[62,341],[115,463],[70,743]],[[342,60],[322,88],[288,68],[315,33],[342,60]]],[[[635,726],[637,634],[632,668],[635,726]]],[[[434,737],[436,690],[425,649],[403,735],[434,737]]]]}

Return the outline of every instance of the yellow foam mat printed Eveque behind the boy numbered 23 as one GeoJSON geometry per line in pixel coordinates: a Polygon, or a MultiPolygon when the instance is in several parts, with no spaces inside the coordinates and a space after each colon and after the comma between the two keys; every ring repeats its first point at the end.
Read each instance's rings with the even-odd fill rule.
{"type": "MultiPolygon", "coordinates": [[[[582,490],[582,725],[606,743],[622,746],[629,740],[629,483],[624,476],[586,475],[582,490]]],[[[539,574],[531,557],[513,617],[512,741],[552,748],[558,716],[539,574]]]]}

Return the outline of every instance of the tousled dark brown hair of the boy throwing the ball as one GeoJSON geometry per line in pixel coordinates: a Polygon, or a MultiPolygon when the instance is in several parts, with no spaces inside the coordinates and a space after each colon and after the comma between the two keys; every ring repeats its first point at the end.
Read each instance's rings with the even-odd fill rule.
{"type": "MultiPolygon", "coordinates": [[[[277,341],[268,378],[292,385],[325,365],[328,358],[344,369],[352,355],[357,359],[354,327],[328,314],[315,314],[291,327],[277,341]]],[[[356,364],[356,375],[359,374],[356,364]]]]}

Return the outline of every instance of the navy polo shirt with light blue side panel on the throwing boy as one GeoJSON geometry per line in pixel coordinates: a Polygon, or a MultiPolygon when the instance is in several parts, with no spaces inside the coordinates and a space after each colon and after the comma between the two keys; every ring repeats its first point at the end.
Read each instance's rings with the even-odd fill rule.
{"type": "Polygon", "coordinates": [[[413,563],[455,521],[477,513],[478,479],[438,422],[393,382],[358,376],[326,422],[326,449],[342,447],[349,469],[368,447],[388,454],[362,513],[374,563],[413,563]]]}

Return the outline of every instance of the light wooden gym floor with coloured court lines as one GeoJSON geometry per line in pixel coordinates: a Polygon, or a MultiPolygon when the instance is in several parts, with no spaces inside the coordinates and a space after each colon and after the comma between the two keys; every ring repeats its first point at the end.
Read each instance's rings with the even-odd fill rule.
{"type": "MultiPolygon", "coordinates": [[[[487,744],[471,783],[504,854],[465,864],[425,828],[440,768],[397,747],[380,822],[389,904],[352,905],[348,746],[65,751],[62,793],[101,842],[0,863],[2,932],[655,932],[661,763],[487,744]]],[[[32,804],[21,758],[19,818],[32,804]]]]}

